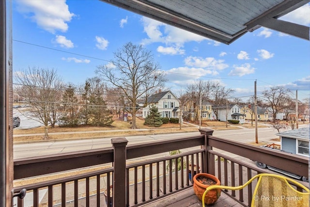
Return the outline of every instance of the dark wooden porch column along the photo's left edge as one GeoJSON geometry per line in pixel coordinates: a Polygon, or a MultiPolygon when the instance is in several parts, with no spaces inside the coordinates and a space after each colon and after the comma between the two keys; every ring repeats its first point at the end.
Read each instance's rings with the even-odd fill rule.
{"type": "Polygon", "coordinates": [[[12,2],[0,1],[0,206],[12,207],[12,2]]]}

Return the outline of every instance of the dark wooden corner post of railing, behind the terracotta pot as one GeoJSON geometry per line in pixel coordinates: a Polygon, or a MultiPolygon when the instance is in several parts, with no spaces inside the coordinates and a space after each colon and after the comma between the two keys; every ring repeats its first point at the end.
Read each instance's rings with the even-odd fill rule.
{"type": "Polygon", "coordinates": [[[204,164],[203,164],[203,172],[215,175],[215,166],[214,166],[214,155],[208,153],[208,150],[212,149],[212,146],[209,146],[208,136],[212,136],[214,130],[202,128],[199,129],[200,133],[204,135],[204,145],[202,146],[205,149],[204,153],[204,164]]]}

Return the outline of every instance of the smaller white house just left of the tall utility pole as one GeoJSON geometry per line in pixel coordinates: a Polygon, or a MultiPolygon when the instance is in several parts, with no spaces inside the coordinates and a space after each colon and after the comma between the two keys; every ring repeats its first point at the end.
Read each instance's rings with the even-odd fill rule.
{"type": "Polygon", "coordinates": [[[241,107],[238,104],[212,106],[212,111],[217,114],[217,119],[220,121],[239,120],[240,124],[245,122],[245,114],[241,113],[241,107]]]}

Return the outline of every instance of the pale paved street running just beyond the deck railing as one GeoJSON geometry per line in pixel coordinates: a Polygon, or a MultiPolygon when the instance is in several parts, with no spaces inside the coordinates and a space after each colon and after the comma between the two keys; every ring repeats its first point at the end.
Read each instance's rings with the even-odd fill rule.
{"type": "MultiPolygon", "coordinates": [[[[268,141],[270,139],[278,138],[275,135],[277,131],[272,127],[258,128],[259,141],[268,141]]],[[[184,132],[184,133],[170,133],[170,134],[153,134],[153,135],[138,135],[126,136],[128,144],[154,142],[165,139],[174,139],[187,136],[195,136],[200,134],[197,132],[184,132]]],[[[255,129],[232,129],[232,130],[218,130],[214,131],[214,136],[222,137],[225,139],[249,143],[255,142],[255,129]]],[[[270,141],[271,142],[271,141],[270,141]]],[[[34,142],[34,143],[18,143],[14,144],[14,159],[36,157],[42,155],[54,155],[66,152],[77,152],[81,150],[97,149],[110,147],[110,138],[103,139],[86,139],[86,140],[71,140],[71,141],[47,141],[47,142],[34,142]]]]}

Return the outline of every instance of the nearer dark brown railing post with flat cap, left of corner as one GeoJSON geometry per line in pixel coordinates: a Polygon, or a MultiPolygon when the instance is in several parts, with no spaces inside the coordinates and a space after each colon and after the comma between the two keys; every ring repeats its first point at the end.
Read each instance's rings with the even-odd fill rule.
{"type": "Polygon", "coordinates": [[[113,138],[114,176],[113,176],[113,207],[126,206],[126,138],[113,138]]]}

